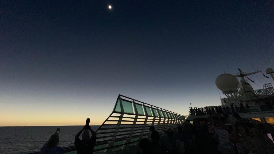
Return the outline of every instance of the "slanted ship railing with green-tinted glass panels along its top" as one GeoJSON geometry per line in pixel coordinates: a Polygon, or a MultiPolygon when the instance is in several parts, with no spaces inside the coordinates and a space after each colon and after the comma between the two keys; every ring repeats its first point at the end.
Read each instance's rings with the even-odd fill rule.
{"type": "MultiPolygon", "coordinates": [[[[185,117],[181,114],[119,94],[112,113],[96,130],[94,154],[129,150],[141,139],[149,138],[150,126],[164,134],[184,121],[185,117]]],[[[75,147],[65,147],[63,152],[75,153],[75,147]]]]}

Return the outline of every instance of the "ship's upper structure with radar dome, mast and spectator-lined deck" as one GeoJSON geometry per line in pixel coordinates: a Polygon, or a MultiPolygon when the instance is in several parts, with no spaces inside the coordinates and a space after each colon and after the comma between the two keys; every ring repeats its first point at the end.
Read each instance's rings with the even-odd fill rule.
{"type": "MultiPolygon", "coordinates": [[[[242,118],[250,119],[250,121],[253,119],[274,126],[273,86],[268,83],[263,85],[263,89],[254,90],[245,78],[250,82],[254,82],[248,76],[261,71],[245,73],[240,68],[238,70],[239,73],[236,75],[224,73],[216,78],[217,88],[226,96],[221,98],[220,106],[190,107],[190,116],[186,120],[191,123],[196,119],[196,122],[212,121],[231,125],[236,121],[236,118],[232,115],[237,113],[242,118]],[[240,78],[240,82],[237,78],[240,78]],[[216,119],[216,116],[211,116],[212,114],[222,116],[217,116],[216,119]]],[[[266,73],[272,77],[274,72],[271,68],[267,68],[266,73]]]]}

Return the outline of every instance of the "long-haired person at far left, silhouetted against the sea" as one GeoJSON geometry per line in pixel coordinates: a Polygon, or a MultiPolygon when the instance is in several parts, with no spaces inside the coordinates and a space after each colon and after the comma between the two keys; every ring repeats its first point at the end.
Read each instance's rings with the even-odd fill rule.
{"type": "Polygon", "coordinates": [[[63,154],[63,150],[59,145],[59,135],[57,133],[51,135],[49,141],[42,147],[40,154],[63,154]]]}

